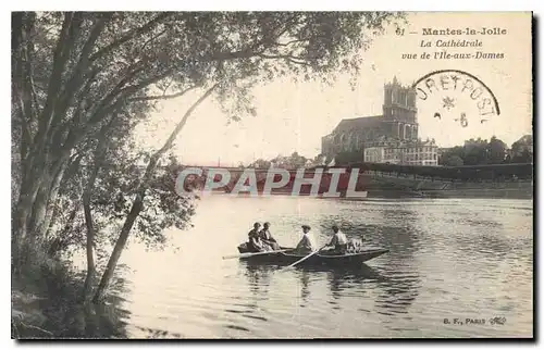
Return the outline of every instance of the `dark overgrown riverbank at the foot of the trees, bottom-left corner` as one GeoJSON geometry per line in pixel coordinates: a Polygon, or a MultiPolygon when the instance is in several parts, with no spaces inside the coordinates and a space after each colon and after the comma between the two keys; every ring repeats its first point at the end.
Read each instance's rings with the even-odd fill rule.
{"type": "Polygon", "coordinates": [[[12,275],[12,339],[126,338],[123,280],[103,304],[83,302],[85,275],[69,261],[44,259],[12,275]]]}

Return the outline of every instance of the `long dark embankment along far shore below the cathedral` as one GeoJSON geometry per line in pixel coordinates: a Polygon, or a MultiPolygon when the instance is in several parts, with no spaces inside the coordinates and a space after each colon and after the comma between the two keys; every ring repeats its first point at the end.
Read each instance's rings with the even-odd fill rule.
{"type": "MultiPolygon", "coordinates": [[[[202,175],[197,180],[203,185],[210,168],[228,172],[228,183],[219,188],[219,191],[231,191],[246,168],[244,167],[215,167],[215,166],[187,166],[202,170],[202,175]]],[[[316,171],[323,172],[319,192],[325,192],[331,184],[330,168],[345,168],[338,182],[338,190],[346,190],[353,170],[358,168],[356,190],[399,190],[408,192],[440,191],[440,190],[481,190],[481,189],[516,189],[523,188],[532,192],[533,164],[490,164],[477,166],[425,166],[425,165],[398,165],[384,163],[350,163],[347,166],[318,166],[306,168],[304,177],[311,178],[316,171]]],[[[251,168],[256,174],[257,187],[262,190],[269,168],[251,168]]],[[[276,192],[290,192],[297,170],[286,170],[289,173],[287,185],[276,192]]],[[[215,174],[214,182],[220,182],[222,175],[215,174]]],[[[274,177],[279,182],[281,175],[274,177]]],[[[245,185],[249,185],[246,179],[245,185]]],[[[309,186],[302,186],[302,192],[309,192],[309,186]]],[[[273,190],[274,191],[274,190],[273,190]]]]}

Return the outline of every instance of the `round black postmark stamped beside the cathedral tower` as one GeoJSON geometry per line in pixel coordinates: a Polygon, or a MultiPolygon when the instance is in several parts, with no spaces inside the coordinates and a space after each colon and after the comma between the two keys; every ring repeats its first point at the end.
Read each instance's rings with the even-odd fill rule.
{"type": "Polygon", "coordinates": [[[452,117],[461,127],[484,124],[500,114],[493,91],[477,76],[459,71],[431,72],[412,86],[420,101],[432,103],[434,118],[452,117]]]}

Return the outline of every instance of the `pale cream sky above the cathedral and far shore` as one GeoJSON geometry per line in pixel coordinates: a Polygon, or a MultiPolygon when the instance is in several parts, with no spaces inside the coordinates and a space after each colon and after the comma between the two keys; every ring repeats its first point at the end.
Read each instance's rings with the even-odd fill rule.
{"type": "MultiPolygon", "coordinates": [[[[383,86],[394,76],[409,85],[428,73],[438,70],[461,70],[470,73],[495,95],[500,115],[485,123],[470,123],[461,127],[454,118],[467,109],[473,113],[475,104],[467,96],[455,96],[457,108],[434,112],[442,103],[417,101],[419,136],[434,138],[440,147],[462,145],[469,138],[496,136],[508,146],[521,136],[532,133],[532,74],[531,74],[531,15],[530,13],[410,13],[405,35],[395,35],[388,27],[374,38],[363,53],[364,64],[355,90],[348,76],[338,76],[333,86],[318,83],[294,84],[288,78],[271,82],[254,89],[256,116],[227,125],[217,102],[207,100],[190,116],[176,139],[173,153],[184,164],[235,166],[256,159],[272,159],[294,151],[313,158],[321,151],[321,137],[330,134],[343,118],[381,115],[383,86]],[[422,28],[506,29],[505,35],[423,36],[422,28]],[[413,34],[410,34],[413,33],[413,34]],[[444,48],[422,48],[421,40],[435,45],[437,39],[479,39],[481,48],[447,48],[449,53],[503,53],[504,59],[421,60],[422,52],[444,48]],[[418,59],[403,59],[403,53],[417,53],[418,59]],[[457,102],[458,100],[458,102],[457,102]],[[472,109],[472,110],[471,110],[472,109]]],[[[201,92],[200,92],[201,93],[201,92]]],[[[161,102],[148,125],[141,125],[137,135],[147,147],[162,145],[181,120],[186,109],[199,97],[197,92],[161,102]],[[152,126],[150,126],[152,125],[152,126]]]]}

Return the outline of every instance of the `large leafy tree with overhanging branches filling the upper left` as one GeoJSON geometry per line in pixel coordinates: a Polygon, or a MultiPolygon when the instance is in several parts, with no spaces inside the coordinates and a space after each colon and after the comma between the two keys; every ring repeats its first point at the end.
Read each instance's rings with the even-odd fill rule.
{"type": "Polygon", "coordinates": [[[109,166],[124,154],[134,126],[157,101],[201,91],[163,147],[147,154],[145,171],[131,173],[126,216],[100,299],[146,210],[160,159],[202,100],[217,99],[238,120],[256,113],[249,93],[256,84],[285,75],[324,82],[341,72],[356,75],[372,35],[400,17],[382,12],[13,13],[14,267],[27,258],[22,252],[54,227],[54,209],[63,192],[62,200],[67,198],[63,184],[75,178],[81,196],[72,191],[70,198],[82,202],[91,246],[92,193],[106,186],[109,166]]]}

